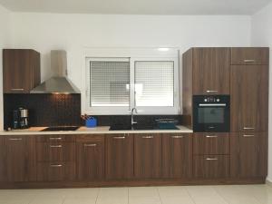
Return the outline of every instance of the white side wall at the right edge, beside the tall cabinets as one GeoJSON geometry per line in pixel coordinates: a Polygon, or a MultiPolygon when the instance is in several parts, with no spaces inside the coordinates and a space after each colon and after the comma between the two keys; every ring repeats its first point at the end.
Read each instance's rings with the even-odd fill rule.
{"type": "MultiPolygon", "coordinates": [[[[270,47],[270,64],[272,64],[272,3],[252,16],[252,45],[270,47]]],[[[272,69],[269,70],[272,82],[272,69]]],[[[272,182],[272,83],[269,83],[269,152],[268,152],[268,177],[272,182]]]]}

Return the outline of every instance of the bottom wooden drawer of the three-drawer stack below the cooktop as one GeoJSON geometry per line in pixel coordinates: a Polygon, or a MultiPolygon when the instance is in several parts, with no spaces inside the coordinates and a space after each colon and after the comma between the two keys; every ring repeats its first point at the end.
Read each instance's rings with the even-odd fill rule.
{"type": "Polygon", "coordinates": [[[38,181],[75,180],[76,170],[74,162],[38,162],[38,181]]]}

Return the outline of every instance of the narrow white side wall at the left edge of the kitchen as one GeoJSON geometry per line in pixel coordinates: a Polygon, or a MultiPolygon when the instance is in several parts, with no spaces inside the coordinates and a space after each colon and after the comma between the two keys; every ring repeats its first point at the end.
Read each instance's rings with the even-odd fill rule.
{"type": "Polygon", "coordinates": [[[3,127],[3,63],[2,49],[10,44],[10,12],[0,5],[0,131],[3,127]]]}

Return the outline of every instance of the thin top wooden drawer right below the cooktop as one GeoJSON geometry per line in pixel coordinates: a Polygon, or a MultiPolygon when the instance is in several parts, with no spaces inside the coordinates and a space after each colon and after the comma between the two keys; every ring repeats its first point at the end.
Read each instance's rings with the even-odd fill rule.
{"type": "Polygon", "coordinates": [[[39,135],[36,138],[36,141],[38,142],[50,142],[50,143],[56,143],[56,142],[74,142],[75,137],[74,135],[39,135]]]}

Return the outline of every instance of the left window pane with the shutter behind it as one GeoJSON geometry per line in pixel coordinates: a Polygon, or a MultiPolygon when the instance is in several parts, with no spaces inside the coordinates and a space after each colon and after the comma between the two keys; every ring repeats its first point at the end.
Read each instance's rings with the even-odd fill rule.
{"type": "Polygon", "coordinates": [[[130,63],[92,61],[91,106],[129,106],[130,63]]]}

